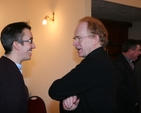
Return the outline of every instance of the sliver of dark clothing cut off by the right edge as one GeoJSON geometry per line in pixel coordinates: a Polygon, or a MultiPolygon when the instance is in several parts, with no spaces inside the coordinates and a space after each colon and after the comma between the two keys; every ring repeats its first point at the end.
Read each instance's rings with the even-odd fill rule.
{"type": "Polygon", "coordinates": [[[141,113],[141,59],[137,62],[135,66],[135,80],[139,96],[139,111],[141,113]]]}

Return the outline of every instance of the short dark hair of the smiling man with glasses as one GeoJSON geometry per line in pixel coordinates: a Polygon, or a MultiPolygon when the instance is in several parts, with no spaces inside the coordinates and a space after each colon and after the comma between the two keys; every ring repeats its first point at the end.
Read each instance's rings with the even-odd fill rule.
{"type": "Polygon", "coordinates": [[[22,40],[23,30],[31,27],[26,22],[15,22],[7,25],[1,32],[0,40],[5,50],[5,54],[12,51],[14,41],[22,40]]]}

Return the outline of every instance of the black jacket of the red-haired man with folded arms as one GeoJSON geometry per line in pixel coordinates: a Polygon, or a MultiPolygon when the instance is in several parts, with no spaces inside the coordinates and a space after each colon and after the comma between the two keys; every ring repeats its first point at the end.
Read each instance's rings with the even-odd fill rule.
{"type": "MultiPolygon", "coordinates": [[[[62,101],[77,95],[78,107],[72,113],[116,113],[116,73],[103,48],[91,52],[80,64],[49,89],[51,98],[62,101]]],[[[60,108],[60,113],[67,113],[60,108]]]]}

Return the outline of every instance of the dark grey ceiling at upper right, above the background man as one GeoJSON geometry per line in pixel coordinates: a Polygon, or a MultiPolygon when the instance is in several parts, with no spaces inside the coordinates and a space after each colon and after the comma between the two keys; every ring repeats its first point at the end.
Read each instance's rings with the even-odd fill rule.
{"type": "Polygon", "coordinates": [[[92,17],[130,23],[138,22],[141,21],[141,8],[104,0],[92,0],[92,17]]]}

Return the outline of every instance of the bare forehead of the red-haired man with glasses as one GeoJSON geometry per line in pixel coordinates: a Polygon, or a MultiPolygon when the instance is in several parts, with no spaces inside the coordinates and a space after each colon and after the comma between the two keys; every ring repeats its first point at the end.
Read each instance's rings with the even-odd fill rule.
{"type": "Polygon", "coordinates": [[[88,24],[86,22],[82,22],[78,24],[78,26],[75,29],[74,36],[84,36],[88,34],[87,29],[88,24]]]}

